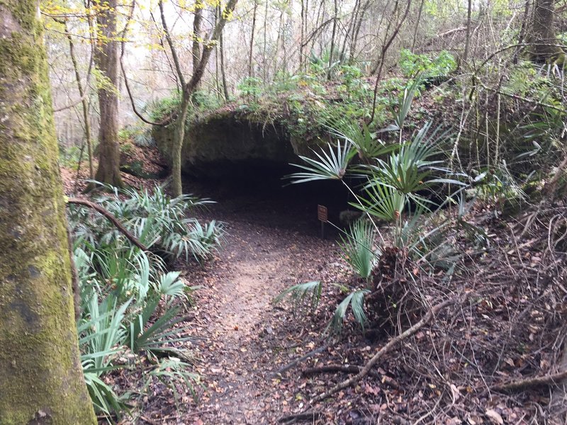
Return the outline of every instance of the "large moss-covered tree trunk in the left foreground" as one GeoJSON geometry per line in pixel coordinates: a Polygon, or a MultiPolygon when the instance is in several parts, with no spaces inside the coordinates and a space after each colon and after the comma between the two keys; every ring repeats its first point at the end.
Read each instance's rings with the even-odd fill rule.
{"type": "Polygon", "coordinates": [[[96,424],[38,6],[0,3],[0,424],[96,424]]]}

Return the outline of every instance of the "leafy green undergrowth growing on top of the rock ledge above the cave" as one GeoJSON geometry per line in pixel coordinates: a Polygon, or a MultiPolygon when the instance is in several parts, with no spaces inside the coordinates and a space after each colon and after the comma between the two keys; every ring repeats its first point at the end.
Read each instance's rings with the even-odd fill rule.
{"type": "MultiPolygon", "coordinates": [[[[374,79],[366,77],[361,64],[352,64],[346,58],[330,65],[328,62],[328,52],[322,57],[313,53],[305,72],[279,72],[273,81],[245,77],[237,85],[239,96],[228,103],[228,108],[237,116],[264,126],[283,125],[293,140],[316,145],[318,140],[326,138],[325,128],[337,117],[364,121],[371,130],[381,128],[388,120],[391,108],[396,106],[398,94],[415,77],[422,77],[421,89],[425,89],[425,86],[439,85],[451,79],[451,72],[456,69],[455,57],[447,51],[428,56],[403,50],[400,57],[402,73],[399,77],[383,79],[375,88],[374,79]]],[[[437,99],[440,101],[446,94],[446,91],[439,91],[437,99]]],[[[174,93],[148,108],[152,119],[162,120],[178,106],[179,94],[174,93]]],[[[188,127],[191,128],[195,120],[206,121],[214,117],[219,108],[220,113],[225,113],[226,106],[218,96],[197,91],[187,118],[188,127]]]]}

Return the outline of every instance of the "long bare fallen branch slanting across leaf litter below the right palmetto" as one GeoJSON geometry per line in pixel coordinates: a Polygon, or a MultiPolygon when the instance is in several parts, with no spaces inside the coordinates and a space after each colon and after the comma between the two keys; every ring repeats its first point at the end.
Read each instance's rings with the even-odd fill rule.
{"type": "Polygon", "coordinates": [[[408,336],[412,336],[413,334],[415,334],[415,332],[419,331],[422,327],[424,327],[427,323],[429,323],[433,319],[435,314],[437,314],[439,311],[443,310],[448,305],[454,304],[454,302],[456,302],[456,299],[451,298],[449,300],[439,302],[439,304],[437,304],[437,305],[434,305],[434,307],[432,307],[430,312],[425,314],[425,316],[422,317],[422,319],[419,322],[414,324],[409,329],[406,329],[405,331],[403,331],[398,336],[395,336],[390,341],[388,341],[388,344],[386,344],[385,346],[380,348],[380,350],[378,350],[378,352],[376,354],[374,354],[374,356],[372,356],[372,358],[368,362],[366,362],[366,364],[364,365],[364,368],[361,368],[360,372],[357,375],[354,375],[352,378],[349,378],[347,380],[339,382],[337,385],[335,385],[335,387],[332,387],[327,392],[324,392],[323,394],[315,397],[312,400],[312,402],[313,403],[320,402],[323,399],[326,399],[327,397],[330,397],[331,395],[335,394],[335,392],[338,392],[340,390],[344,390],[344,388],[350,387],[351,385],[359,382],[359,380],[361,380],[366,375],[368,375],[371,368],[373,368],[374,365],[376,365],[376,363],[378,363],[378,360],[380,360],[386,353],[391,351],[391,349],[394,346],[396,346],[398,343],[400,343],[400,341],[403,341],[404,339],[408,338],[408,336]]]}

